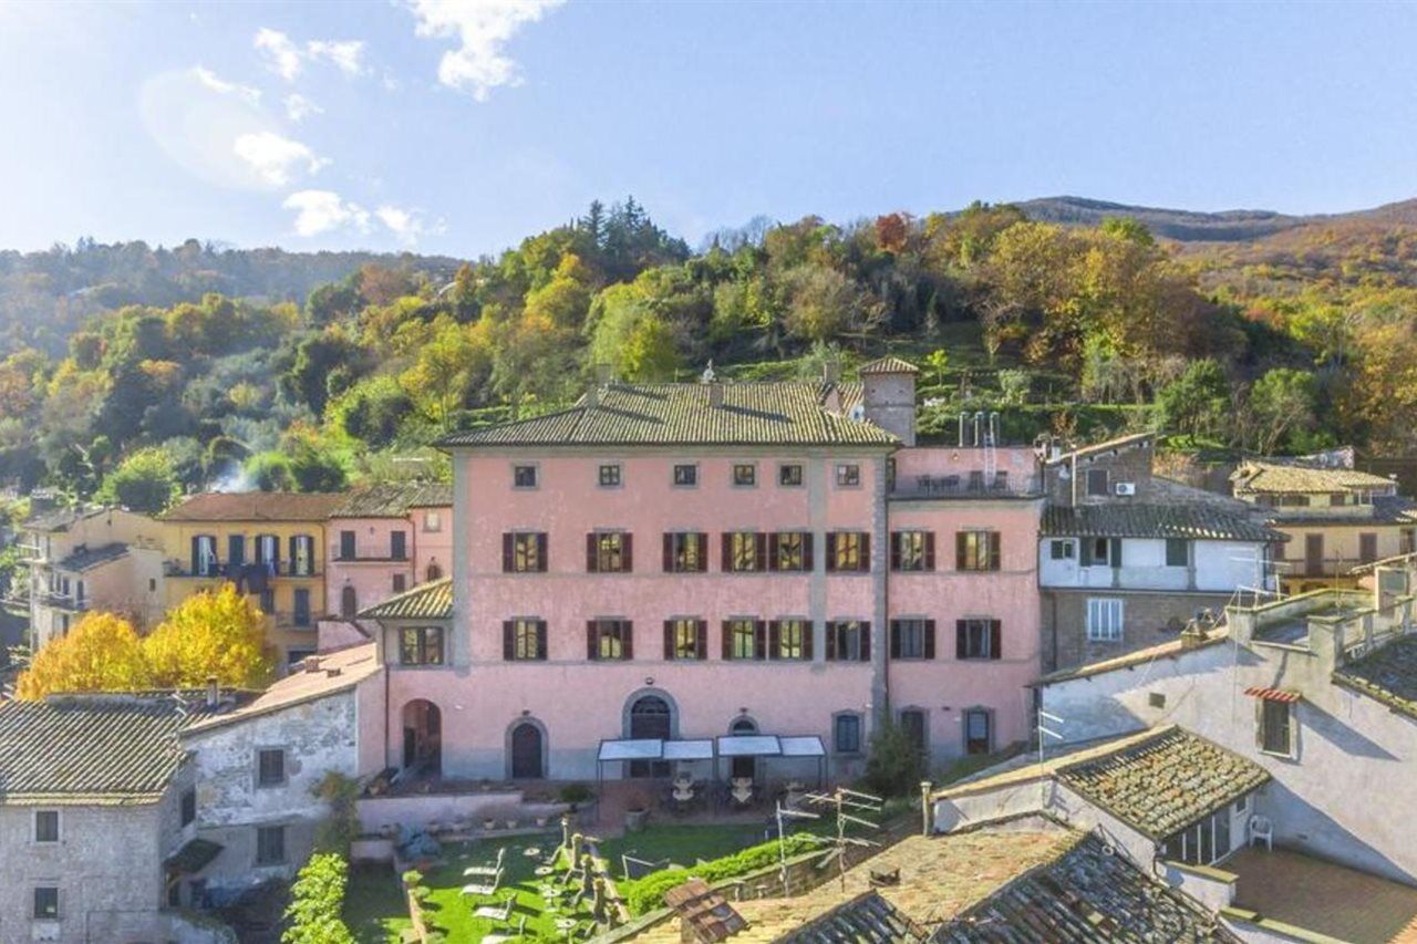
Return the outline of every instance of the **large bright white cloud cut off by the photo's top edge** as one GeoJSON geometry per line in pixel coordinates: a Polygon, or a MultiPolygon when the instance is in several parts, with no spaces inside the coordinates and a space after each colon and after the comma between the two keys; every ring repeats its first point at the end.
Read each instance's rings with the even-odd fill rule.
{"type": "Polygon", "coordinates": [[[520,85],[517,64],[503,47],[527,23],[536,23],[565,0],[405,0],[422,37],[456,38],[456,50],[444,52],[438,81],[479,102],[492,89],[520,85]]]}

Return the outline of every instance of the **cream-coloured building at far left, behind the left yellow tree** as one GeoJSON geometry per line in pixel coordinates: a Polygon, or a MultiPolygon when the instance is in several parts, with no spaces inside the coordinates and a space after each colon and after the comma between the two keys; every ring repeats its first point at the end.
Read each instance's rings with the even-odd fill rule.
{"type": "Polygon", "coordinates": [[[45,509],[20,532],[33,648],[89,609],[120,612],[142,628],[162,619],[162,529],[153,519],[115,507],[45,509]]]}

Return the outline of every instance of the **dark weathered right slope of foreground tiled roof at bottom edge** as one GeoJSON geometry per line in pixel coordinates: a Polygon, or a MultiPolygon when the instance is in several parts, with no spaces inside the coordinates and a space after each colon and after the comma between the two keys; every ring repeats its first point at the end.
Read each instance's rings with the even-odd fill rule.
{"type": "Polygon", "coordinates": [[[973,941],[1237,941],[1185,894],[1094,835],[990,894],[931,938],[973,941]]]}

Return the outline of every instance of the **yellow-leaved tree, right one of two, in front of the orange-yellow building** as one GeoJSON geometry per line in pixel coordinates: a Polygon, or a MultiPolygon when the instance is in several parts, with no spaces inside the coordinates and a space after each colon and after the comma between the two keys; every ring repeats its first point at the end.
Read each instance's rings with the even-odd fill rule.
{"type": "Polygon", "coordinates": [[[227,584],[188,597],[143,639],[153,682],[193,689],[217,676],[222,686],[252,689],[271,680],[265,618],[227,584]]]}

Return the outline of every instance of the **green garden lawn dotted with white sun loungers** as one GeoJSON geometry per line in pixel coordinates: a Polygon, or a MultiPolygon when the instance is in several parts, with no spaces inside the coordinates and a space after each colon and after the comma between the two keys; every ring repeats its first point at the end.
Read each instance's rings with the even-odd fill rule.
{"type": "MultiPolygon", "coordinates": [[[[526,916],[527,937],[564,938],[565,935],[555,928],[555,920],[574,917],[584,923],[589,918],[589,909],[582,907],[574,914],[546,910],[546,901],[538,892],[543,879],[534,869],[554,848],[553,836],[445,845],[446,865],[424,876],[424,884],[431,890],[427,914],[432,927],[442,931],[449,944],[478,941],[495,931],[510,933],[526,916]],[[503,862],[506,876],[502,889],[490,897],[463,896],[462,886],[472,879],[465,879],[462,870],[470,865],[492,865],[497,858],[497,849],[503,845],[507,848],[507,855],[503,862]],[[536,848],[538,855],[534,858],[523,855],[529,846],[536,848]],[[500,904],[507,893],[516,894],[510,928],[500,921],[472,917],[475,907],[500,904]]],[[[397,941],[400,931],[410,927],[402,894],[391,870],[357,870],[350,876],[344,901],[344,920],[363,944],[397,941]]]]}

